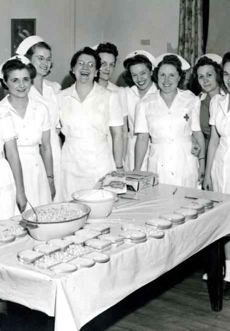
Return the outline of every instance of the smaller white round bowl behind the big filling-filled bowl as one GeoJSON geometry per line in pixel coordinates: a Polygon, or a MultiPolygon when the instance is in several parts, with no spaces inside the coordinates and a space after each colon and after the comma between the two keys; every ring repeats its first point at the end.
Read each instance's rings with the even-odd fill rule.
{"type": "Polygon", "coordinates": [[[90,207],[91,212],[89,213],[89,219],[103,219],[111,213],[117,195],[107,190],[82,190],[74,192],[72,197],[77,202],[90,207]],[[86,196],[97,194],[97,192],[99,194],[104,192],[105,195],[108,195],[108,198],[103,200],[91,200],[91,198],[89,198],[89,200],[87,200],[86,196]]]}

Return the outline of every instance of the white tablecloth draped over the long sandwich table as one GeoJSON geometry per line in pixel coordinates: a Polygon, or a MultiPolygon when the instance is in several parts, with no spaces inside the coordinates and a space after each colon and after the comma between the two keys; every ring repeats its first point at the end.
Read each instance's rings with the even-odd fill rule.
{"type": "Polygon", "coordinates": [[[192,201],[184,196],[202,196],[221,202],[214,203],[213,209],[197,219],[165,230],[162,239],[124,244],[106,252],[110,255],[108,263],[96,263],[92,268],[68,275],[20,264],[17,253],[38,244],[29,236],[2,246],[0,297],[55,315],[55,331],[76,331],[137,288],[230,233],[229,195],[182,187],[172,195],[174,190],[173,186],[158,185],[135,194],[138,201],[119,200],[106,220],[111,225],[111,233],[120,233],[123,224],[144,224],[147,219],[173,212],[192,201]]]}

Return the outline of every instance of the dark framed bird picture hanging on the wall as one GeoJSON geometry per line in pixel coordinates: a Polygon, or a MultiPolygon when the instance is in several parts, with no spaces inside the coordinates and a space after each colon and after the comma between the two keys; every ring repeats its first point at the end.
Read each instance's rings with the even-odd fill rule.
{"type": "Polygon", "coordinates": [[[24,39],[34,35],[36,35],[36,19],[12,19],[11,56],[15,55],[15,51],[24,39]]]}

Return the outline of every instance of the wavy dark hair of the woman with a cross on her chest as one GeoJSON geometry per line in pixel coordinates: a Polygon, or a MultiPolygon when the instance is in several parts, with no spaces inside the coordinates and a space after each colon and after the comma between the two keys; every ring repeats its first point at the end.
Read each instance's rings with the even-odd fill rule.
{"type": "Polygon", "coordinates": [[[180,60],[178,59],[178,57],[176,55],[173,55],[173,54],[165,55],[163,57],[163,60],[153,70],[153,81],[157,84],[157,88],[159,89],[159,86],[158,86],[158,71],[159,71],[160,67],[163,64],[171,64],[172,66],[174,66],[176,68],[176,70],[177,70],[177,72],[180,76],[180,80],[178,82],[178,88],[183,89],[183,83],[184,83],[184,80],[185,80],[186,73],[182,70],[182,64],[181,64],[180,60]]]}

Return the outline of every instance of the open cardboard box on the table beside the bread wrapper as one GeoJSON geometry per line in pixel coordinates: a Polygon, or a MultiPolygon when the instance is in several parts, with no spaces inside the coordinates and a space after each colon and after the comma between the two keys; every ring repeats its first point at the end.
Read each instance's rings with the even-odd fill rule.
{"type": "Polygon", "coordinates": [[[129,171],[125,176],[130,191],[140,191],[158,184],[158,175],[148,171],[129,171]]]}

